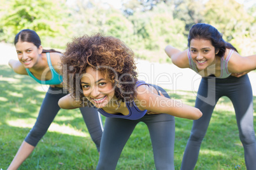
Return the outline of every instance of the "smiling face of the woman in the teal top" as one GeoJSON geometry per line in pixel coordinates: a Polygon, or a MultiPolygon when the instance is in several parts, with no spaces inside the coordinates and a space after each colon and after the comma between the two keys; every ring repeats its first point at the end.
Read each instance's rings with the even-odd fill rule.
{"type": "Polygon", "coordinates": [[[31,42],[20,42],[15,44],[18,55],[18,60],[24,65],[26,69],[32,68],[37,62],[39,55],[42,53],[42,46],[37,48],[31,42]]]}

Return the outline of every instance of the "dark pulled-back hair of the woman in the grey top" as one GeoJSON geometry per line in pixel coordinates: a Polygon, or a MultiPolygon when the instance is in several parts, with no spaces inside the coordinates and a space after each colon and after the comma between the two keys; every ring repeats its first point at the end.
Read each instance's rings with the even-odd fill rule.
{"type": "Polygon", "coordinates": [[[222,34],[218,32],[215,27],[206,23],[197,23],[191,27],[188,34],[188,48],[190,48],[190,41],[192,39],[206,39],[210,40],[211,44],[215,47],[215,52],[217,56],[224,56],[226,48],[234,49],[236,52],[238,50],[232,46],[229,42],[225,42],[222,38],[222,34]]]}

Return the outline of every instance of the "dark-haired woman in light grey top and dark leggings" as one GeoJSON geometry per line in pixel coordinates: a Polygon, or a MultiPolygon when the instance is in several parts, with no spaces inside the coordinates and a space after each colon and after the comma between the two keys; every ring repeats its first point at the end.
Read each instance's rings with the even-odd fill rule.
{"type": "Polygon", "coordinates": [[[234,105],[239,137],[245,150],[246,168],[256,169],[253,95],[246,74],[256,69],[256,55],[240,56],[232,44],[222,39],[222,34],[215,27],[205,23],[197,23],[190,29],[188,49],[180,51],[173,46],[166,46],[165,51],[174,65],[190,68],[203,77],[195,105],[203,112],[203,116],[193,122],[181,170],[194,169],[196,166],[211,114],[222,96],[230,98],[234,105]]]}

